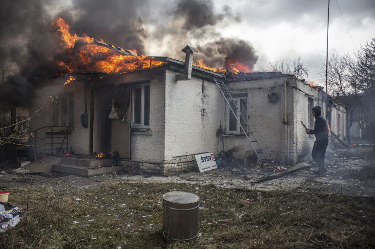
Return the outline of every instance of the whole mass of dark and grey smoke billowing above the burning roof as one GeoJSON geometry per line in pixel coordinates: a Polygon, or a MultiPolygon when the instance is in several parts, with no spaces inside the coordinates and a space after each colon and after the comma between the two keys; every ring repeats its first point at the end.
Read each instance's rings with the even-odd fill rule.
{"type": "MultiPolygon", "coordinates": [[[[0,66],[12,65],[0,91],[2,107],[27,106],[33,92],[64,74],[55,62],[63,57],[52,23],[63,18],[70,33],[103,39],[138,54],[184,60],[181,49],[195,47],[210,67],[230,68],[233,59],[253,68],[257,56],[248,41],[223,38],[220,28],[241,22],[229,6],[212,0],[0,0],[0,66]],[[153,5],[152,5],[153,4],[153,5]],[[152,5],[152,7],[151,7],[152,5]],[[158,54],[149,54],[158,46],[158,54]]],[[[6,74],[2,74],[6,75],[6,74]]]]}

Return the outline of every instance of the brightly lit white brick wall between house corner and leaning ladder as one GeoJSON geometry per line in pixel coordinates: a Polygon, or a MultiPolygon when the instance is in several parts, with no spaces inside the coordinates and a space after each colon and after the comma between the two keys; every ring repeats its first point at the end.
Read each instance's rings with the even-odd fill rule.
{"type": "Polygon", "coordinates": [[[218,88],[208,80],[192,77],[175,81],[175,72],[166,75],[165,159],[174,156],[216,153],[220,126],[218,88]]]}

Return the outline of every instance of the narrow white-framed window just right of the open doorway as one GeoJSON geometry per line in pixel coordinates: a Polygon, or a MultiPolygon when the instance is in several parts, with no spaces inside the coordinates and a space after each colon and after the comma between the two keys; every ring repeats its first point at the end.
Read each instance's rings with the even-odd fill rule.
{"type": "Polygon", "coordinates": [[[133,88],[132,127],[149,128],[150,125],[150,85],[133,88]]]}

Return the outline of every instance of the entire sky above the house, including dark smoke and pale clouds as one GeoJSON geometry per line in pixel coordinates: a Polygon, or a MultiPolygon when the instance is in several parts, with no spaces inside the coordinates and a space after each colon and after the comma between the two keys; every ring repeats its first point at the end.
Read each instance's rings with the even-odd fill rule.
{"type": "MultiPolygon", "coordinates": [[[[190,45],[194,59],[210,67],[236,61],[270,71],[270,62],[300,58],[307,80],[324,85],[318,72],[326,62],[327,16],[328,0],[0,0],[0,62],[15,65],[8,80],[16,99],[30,99],[44,79],[62,75],[53,24],[60,17],[72,34],[140,55],[184,61],[181,49],[190,45]]],[[[375,38],[375,0],[331,0],[329,17],[329,55],[353,54],[375,38]]]]}

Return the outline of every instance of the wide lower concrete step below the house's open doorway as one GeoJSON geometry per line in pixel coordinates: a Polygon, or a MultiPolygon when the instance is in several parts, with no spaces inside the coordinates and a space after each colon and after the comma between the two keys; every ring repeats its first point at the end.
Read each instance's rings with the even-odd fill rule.
{"type": "MultiPolygon", "coordinates": [[[[75,158],[70,158],[75,159],[75,158]]],[[[102,161],[102,160],[95,160],[95,161],[102,161]]],[[[103,163],[100,165],[102,166],[103,163]]],[[[95,175],[102,175],[106,173],[122,171],[123,166],[113,166],[113,167],[83,167],[83,166],[76,166],[76,165],[68,165],[68,164],[52,164],[52,171],[53,172],[62,172],[74,175],[80,175],[84,177],[91,177],[95,175]]]]}

